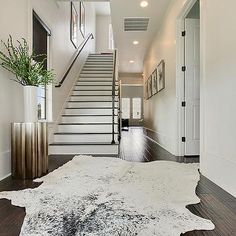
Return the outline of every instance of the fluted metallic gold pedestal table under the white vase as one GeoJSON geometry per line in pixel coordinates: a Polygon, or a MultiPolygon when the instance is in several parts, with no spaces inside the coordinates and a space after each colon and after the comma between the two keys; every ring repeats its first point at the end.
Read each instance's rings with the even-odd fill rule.
{"type": "Polygon", "coordinates": [[[47,123],[12,123],[11,150],[13,178],[34,179],[47,174],[47,123]]]}

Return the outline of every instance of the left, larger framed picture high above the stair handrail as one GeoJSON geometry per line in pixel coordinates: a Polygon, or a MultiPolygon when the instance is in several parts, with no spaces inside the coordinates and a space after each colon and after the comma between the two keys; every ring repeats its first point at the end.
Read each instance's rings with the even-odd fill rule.
{"type": "Polygon", "coordinates": [[[75,5],[71,2],[71,18],[70,18],[70,40],[75,48],[78,47],[78,22],[79,16],[76,11],[75,5]]]}

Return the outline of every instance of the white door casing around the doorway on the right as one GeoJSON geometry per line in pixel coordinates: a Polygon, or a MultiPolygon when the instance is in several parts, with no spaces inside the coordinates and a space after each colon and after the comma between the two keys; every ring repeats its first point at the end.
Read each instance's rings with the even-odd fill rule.
{"type": "MultiPolygon", "coordinates": [[[[203,30],[203,1],[200,1],[200,77],[203,74],[203,38],[204,38],[204,30],[203,30]]],[[[176,154],[178,156],[185,155],[185,142],[182,141],[182,137],[185,137],[185,108],[182,106],[182,102],[185,101],[185,73],[182,71],[182,67],[185,66],[185,37],[182,36],[182,32],[185,31],[185,18],[188,13],[194,6],[197,0],[187,0],[179,16],[176,19],[176,104],[177,104],[177,140],[176,140],[176,154]]],[[[201,78],[200,78],[200,97],[202,99],[203,92],[201,86],[201,78]]],[[[202,113],[202,102],[200,103],[200,113],[202,113]]],[[[202,117],[202,114],[201,114],[202,117]]],[[[202,130],[202,119],[200,118],[200,132],[202,130]]],[[[202,143],[202,135],[200,133],[200,146],[202,143]]],[[[201,147],[200,147],[201,152],[201,147]]]]}

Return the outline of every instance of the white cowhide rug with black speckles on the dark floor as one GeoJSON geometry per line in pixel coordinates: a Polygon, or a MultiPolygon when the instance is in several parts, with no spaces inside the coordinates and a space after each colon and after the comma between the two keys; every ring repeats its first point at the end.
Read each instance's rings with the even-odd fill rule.
{"type": "Polygon", "coordinates": [[[77,156],[36,189],[2,192],[25,207],[21,235],[174,236],[212,230],[186,205],[199,202],[198,164],[131,163],[77,156]]]}

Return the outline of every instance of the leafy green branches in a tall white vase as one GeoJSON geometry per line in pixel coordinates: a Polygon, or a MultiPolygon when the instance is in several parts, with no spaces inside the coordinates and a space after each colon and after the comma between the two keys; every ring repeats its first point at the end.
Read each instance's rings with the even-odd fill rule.
{"type": "Polygon", "coordinates": [[[44,55],[29,52],[28,43],[24,38],[14,45],[12,37],[7,42],[1,41],[4,50],[0,50],[0,65],[15,75],[15,82],[24,86],[24,114],[25,122],[37,121],[37,87],[53,82],[52,70],[44,68],[44,55]],[[37,58],[44,60],[37,61],[37,58]]]}

